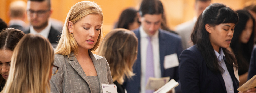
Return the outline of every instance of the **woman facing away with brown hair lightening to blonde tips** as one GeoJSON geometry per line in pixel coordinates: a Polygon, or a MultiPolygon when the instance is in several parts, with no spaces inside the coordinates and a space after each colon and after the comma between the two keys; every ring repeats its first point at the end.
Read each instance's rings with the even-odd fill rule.
{"type": "Polygon", "coordinates": [[[127,29],[113,29],[99,47],[99,55],[109,63],[113,82],[118,93],[127,93],[123,87],[125,78],[132,79],[133,64],[137,58],[138,39],[127,29]]]}

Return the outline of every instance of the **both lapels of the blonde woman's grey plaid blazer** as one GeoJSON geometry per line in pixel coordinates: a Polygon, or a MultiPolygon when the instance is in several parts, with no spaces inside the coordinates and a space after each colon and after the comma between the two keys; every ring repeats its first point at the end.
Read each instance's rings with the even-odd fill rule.
{"type": "MultiPolygon", "coordinates": [[[[101,61],[99,59],[98,56],[95,56],[91,50],[88,51],[89,52],[89,55],[91,57],[91,60],[93,61],[93,64],[94,64],[94,67],[96,69],[96,72],[97,72],[97,76],[98,76],[98,79],[99,79],[99,84],[101,84],[103,81],[102,81],[102,70],[103,68],[101,68],[101,61]]],[[[102,57],[104,58],[104,57],[102,57]]],[[[90,89],[93,89],[91,87],[91,83],[89,81],[89,78],[86,76],[85,72],[83,71],[81,65],[79,64],[79,62],[77,61],[77,58],[75,58],[75,55],[73,52],[70,53],[70,56],[68,58],[68,62],[69,64],[74,68],[75,71],[77,71],[77,73],[87,82],[87,84],[89,85],[90,89]]],[[[107,68],[106,70],[103,70],[103,71],[107,71],[107,68]]],[[[102,91],[102,87],[100,86],[100,91],[102,91]]],[[[92,92],[92,91],[91,91],[92,92]]]]}

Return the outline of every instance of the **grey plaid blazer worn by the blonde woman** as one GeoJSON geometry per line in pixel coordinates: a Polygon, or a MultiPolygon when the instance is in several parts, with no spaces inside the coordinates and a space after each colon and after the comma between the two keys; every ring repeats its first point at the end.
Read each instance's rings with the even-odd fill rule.
{"type": "MultiPolygon", "coordinates": [[[[113,84],[109,64],[105,57],[93,54],[89,50],[89,54],[96,69],[100,92],[103,93],[101,83],[113,84]]],[[[91,84],[85,75],[82,67],[75,58],[74,53],[70,53],[70,57],[55,54],[54,65],[58,66],[58,72],[51,77],[50,86],[51,93],[91,93],[92,89],[98,84],[91,84]]]]}

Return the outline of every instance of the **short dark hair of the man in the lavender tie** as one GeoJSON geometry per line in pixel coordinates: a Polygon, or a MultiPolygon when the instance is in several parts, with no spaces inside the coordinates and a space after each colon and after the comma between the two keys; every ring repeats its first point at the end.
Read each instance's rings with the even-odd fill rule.
{"type": "Polygon", "coordinates": [[[139,8],[139,14],[141,17],[145,14],[163,14],[163,5],[159,0],[143,0],[139,8]]]}

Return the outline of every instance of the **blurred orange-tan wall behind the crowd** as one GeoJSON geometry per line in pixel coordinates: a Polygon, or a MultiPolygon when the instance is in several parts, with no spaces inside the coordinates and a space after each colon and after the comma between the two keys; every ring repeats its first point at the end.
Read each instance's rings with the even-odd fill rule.
{"type": "MultiPolygon", "coordinates": [[[[9,22],[7,17],[8,5],[15,0],[0,0],[0,18],[9,22]]],[[[27,0],[24,0],[25,2],[27,0]]],[[[69,9],[81,0],[51,0],[53,7],[52,18],[65,21],[69,9]]],[[[104,22],[103,31],[108,33],[113,29],[121,12],[128,7],[138,9],[141,0],[90,0],[95,1],[103,10],[104,22]]],[[[192,19],[194,13],[194,0],[161,0],[165,9],[167,24],[171,29],[176,25],[192,19]]],[[[212,0],[212,3],[224,3],[234,10],[241,9],[245,2],[249,0],[212,0]]]]}

